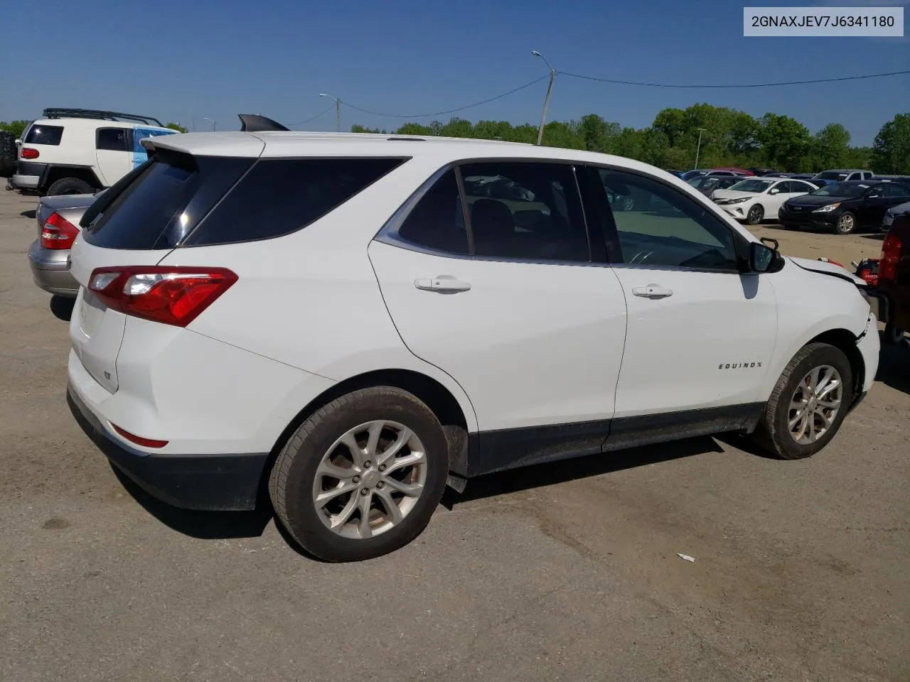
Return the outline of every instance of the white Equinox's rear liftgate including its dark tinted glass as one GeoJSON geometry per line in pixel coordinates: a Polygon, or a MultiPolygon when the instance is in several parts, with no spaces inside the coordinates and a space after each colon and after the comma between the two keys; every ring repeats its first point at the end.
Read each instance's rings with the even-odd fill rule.
{"type": "Polygon", "coordinates": [[[156,265],[253,161],[162,150],[155,161],[108,189],[86,213],[87,226],[71,251],[71,271],[80,288],[69,333],[76,356],[110,393],[118,386],[116,357],[126,316],[89,290],[93,273],[99,267],[156,265]]]}

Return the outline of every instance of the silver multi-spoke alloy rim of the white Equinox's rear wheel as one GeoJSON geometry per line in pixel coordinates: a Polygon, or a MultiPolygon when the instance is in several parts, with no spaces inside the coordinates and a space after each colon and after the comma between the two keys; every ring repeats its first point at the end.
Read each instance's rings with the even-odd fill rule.
{"type": "Polygon", "coordinates": [[[313,505],[341,537],[366,539],[399,525],[427,482],[420,438],[398,422],[375,420],[339,437],[319,462],[313,505]]]}

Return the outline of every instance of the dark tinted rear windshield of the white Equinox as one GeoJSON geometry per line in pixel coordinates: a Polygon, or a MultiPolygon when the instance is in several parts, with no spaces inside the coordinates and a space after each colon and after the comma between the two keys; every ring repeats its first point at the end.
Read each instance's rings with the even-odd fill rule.
{"type": "Polygon", "coordinates": [[[125,186],[107,190],[118,194],[86,227],[84,238],[105,248],[173,248],[254,161],[161,149],[125,186]]]}

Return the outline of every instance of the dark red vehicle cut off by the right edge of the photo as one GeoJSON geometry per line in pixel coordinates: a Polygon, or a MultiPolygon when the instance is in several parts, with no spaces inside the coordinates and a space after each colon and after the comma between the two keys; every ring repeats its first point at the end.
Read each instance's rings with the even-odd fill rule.
{"type": "Polygon", "coordinates": [[[897,216],[885,236],[875,296],[885,341],[901,340],[910,329],[910,216],[897,216]]]}

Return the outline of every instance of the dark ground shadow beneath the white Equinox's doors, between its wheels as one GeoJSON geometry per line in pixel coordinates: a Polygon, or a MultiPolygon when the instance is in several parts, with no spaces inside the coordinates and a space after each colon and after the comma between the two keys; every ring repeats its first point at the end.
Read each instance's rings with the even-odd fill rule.
{"type": "MultiPolygon", "coordinates": [[[[736,446],[742,448],[739,443],[736,446]]],[[[636,466],[669,462],[672,459],[703,455],[709,452],[723,452],[723,447],[719,446],[711,436],[700,436],[653,446],[633,447],[599,455],[563,459],[547,464],[522,466],[509,471],[471,478],[463,493],[447,487],[441,504],[451,511],[454,506],[470,500],[509,495],[535,487],[612,474],[636,466]]]]}

